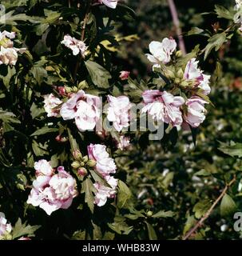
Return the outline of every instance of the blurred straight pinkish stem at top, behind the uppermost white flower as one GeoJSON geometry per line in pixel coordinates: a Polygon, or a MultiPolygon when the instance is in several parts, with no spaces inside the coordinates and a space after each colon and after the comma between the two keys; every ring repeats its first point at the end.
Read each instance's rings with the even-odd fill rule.
{"type": "Polygon", "coordinates": [[[184,40],[183,40],[181,26],[180,26],[178,14],[177,14],[177,8],[176,8],[175,3],[174,3],[173,0],[168,0],[168,3],[169,3],[169,9],[170,9],[172,17],[173,17],[173,23],[174,23],[174,26],[175,26],[176,31],[177,31],[177,37],[178,37],[178,40],[179,40],[179,47],[182,51],[182,54],[186,54],[186,48],[184,46],[184,40]]]}

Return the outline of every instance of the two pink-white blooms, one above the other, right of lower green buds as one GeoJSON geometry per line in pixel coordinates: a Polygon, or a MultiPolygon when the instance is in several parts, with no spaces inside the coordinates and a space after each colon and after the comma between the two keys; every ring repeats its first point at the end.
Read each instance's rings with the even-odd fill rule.
{"type": "Polygon", "coordinates": [[[97,162],[95,169],[109,186],[105,186],[100,182],[96,182],[94,187],[97,192],[95,194],[95,204],[97,206],[104,206],[107,202],[107,198],[113,198],[116,194],[117,179],[110,176],[110,174],[116,173],[117,166],[113,158],[109,158],[109,154],[106,151],[106,146],[101,144],[90,144],[88,146],[89,158],[97,162]]]}

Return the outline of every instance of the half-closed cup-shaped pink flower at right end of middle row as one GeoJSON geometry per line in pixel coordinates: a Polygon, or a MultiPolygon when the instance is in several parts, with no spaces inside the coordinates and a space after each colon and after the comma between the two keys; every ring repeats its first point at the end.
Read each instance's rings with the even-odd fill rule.
{"type": "Polygon", "coordinates": [[[208,102],[204,99],[192,96],[188,98],[185,105],[188,107],[187,114],[184,114],[184,121],[192,127],[198,127],[205,120],[205,114],[207,110],[204,108],[204,104],[208,102]]]}

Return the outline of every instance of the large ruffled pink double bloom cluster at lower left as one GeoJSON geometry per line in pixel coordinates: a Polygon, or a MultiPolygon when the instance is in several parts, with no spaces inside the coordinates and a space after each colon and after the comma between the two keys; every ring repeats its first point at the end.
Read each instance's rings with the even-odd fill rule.
{"type": "Polygon", "coordinates": [[[63,166],[58,167],[58,173],[50,163],[42,159],[35,162],[36,179],[30,191],[27,203],[39,206],[50,215],[58,209],[67,209],[77,196],[76,180],[68,174],[63,166]]]}

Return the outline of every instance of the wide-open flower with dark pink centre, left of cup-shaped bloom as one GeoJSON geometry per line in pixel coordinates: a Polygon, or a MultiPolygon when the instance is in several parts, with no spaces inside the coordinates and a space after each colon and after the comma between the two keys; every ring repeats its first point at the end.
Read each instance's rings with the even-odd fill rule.
{"type": "Polygon", "coordinates": [[[184,98],[160,90],[145,90],[142,97],[145,103],[142,113],[147,112],[153,120],[181,126],[183,119],[180,107],[184,104],[184,98]]]}

